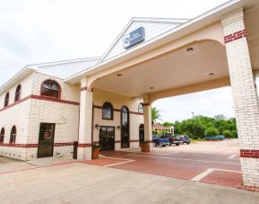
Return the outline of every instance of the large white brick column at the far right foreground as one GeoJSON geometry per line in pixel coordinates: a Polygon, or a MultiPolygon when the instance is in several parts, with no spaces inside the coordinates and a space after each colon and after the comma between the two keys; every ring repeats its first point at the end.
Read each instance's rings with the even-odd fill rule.
{"type": "Polygon", "coordinates": [[[221,20],[233,94],[244,184],[259,187],[259,110],[243,9],[221,20]]]}

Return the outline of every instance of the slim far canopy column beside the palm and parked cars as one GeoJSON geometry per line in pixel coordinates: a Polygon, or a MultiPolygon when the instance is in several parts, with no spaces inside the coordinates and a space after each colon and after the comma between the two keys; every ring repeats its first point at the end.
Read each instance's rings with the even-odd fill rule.
{"type": "Polygon", "coordinates": [[[149,103],[149,95],[143,95],[143,115],[144,115],[144,137],[145,141],[150,144],[150,151],[153,150],[152,144],[152,122],[151,122],[151,104],[149,103]]]}

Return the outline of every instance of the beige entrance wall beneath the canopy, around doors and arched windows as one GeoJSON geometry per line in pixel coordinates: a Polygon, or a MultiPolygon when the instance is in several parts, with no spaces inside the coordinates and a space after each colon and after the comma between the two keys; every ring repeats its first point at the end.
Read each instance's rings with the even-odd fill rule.
{"type": "MultiPolygon", "coordinates": [[[[93,104],[95,106],[102,106],[104,102],[111,102],[114,111],[113,120],[102,120],[102,110],[94,108],[94,120],[93,126],[99,124],[99,126],[111,126],[115,127],[115,140],[121,140],[121,130],[117,129],[117,126],[121,125],[120,109],[122,106],[126,106],[130,113],[130,140],[139,140],[139,126],[143,123],[143,116],[136,114],[138,112],[138,105],[141,100],[132,100],[130,97],[126,97],[116,93],[109,93],[104,90],[93,90],[93,104]]],[[[99,142],[99,129],[93,128],[93,141],[99,142]]],[[[138,147],[138,142],[131,142],[130,147],[138,147]]],[[[120,143],[116,143],[116,150],[121,148],[120,143]]]]}

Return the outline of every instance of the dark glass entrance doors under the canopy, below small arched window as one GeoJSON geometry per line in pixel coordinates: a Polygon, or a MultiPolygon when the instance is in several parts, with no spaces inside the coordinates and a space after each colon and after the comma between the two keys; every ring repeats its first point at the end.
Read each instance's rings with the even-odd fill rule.
{"type": "Polygon", "coordinates": [[[101,151],[115,150],[115,128],[99,127],[99,146],[101,151]]]}

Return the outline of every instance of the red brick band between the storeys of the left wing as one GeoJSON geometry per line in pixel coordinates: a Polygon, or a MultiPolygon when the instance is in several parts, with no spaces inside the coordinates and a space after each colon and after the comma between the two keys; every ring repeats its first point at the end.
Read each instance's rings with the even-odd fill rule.
{"type": "Polygon", "coordinates": [[[33,95],[33,94],[31,94],[31,95],[26,96],[26,97],[24,97],[23,99],[21,99],[17,102],[13,102],[12,104],[5,106],[3,109],[0,109],[0,112],[5,111],[6,109],[10,109],[14,105],[17,105],[21,102],[26,102],[27,100],[30,100],[30,99],[42,100],[42,101],[47,101],[47,102],[60,102],[60,103],[65,103],[65,104],[69,104],[69,105],[79,105],[80,104],[80,102],[71,102],[71,101],[51,98],[51,97],[47,97],[47,96],[43,96],[43,95],[33,95]]]}

